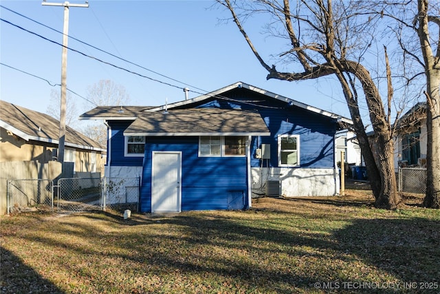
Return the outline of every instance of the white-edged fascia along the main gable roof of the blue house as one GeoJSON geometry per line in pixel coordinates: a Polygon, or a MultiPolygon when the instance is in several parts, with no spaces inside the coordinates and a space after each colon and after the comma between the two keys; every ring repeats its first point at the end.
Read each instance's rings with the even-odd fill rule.
{"type": "Polygon", "coordinates": [[[263,95],[275,98],[275,99],[277,99],[279,101],[283,101],[283,102],[287,103],[288,105],[300,107],[300,108],[303,108],[303,109],[307,109],[310,112],[315,112],[317,114],[321,114],[323,116],[328,116],[330,118],[340,119],[344,123],[349,123],[351,125],[353,124],[353,120],[351,120],[349,118],[345,118],[343,116],[340,116],[339,114],[333,114],[332,112],[327,112],[326,110],[319,109],[317,107],[314,107],[314,106],[311,106],[311,105],[307,105],[305,103],[301,103],[301,102],[293,100],[291,98],[287,98],[285,96],[281,96],[281,95],[278,95],[278,94],[275,94],[275,93],[272,93],[272,92],[260,89],[259,87],[254,87],[252,85],[249,85],[249,84],[243,83],[243,82],[236,82],[236,83],[233,83],[232,85],[228,85],[226,87],[223,87],[223,88],[221,88],[219,90],[210,92],[208,94],[204,94],[204,95],[201,95],[201,96],[198,96],[198,97],[195,97],[195,98],[192,98],[192,99],[184,100],[184,101],[179,101],[177,103],[172,103],[172,104],[168,104],[168,105],[162,105],[162,106],[159,106],[159,107],[147,109],[146,111],[147,112],[155,112],[155,111],[159,111],[159,110],[164,110],[165,107],[167,107],[167,109],[172,109],[174,107],[183,106],[183,105],[186,105],[186,104],[189,104],[189,103],[197,103],[197,102],[200,102],[200,101],[203,101],[205,99],[212,98],[212,97],[219,97],[219,98],[221,98],[221,94],[223,94],[225,92],[228,92],[228,91],[230,91],[230,90],[232,90],[232,89],[234,89],[236,87],[245,88],[245,89],[248,89],[250,91],[253,91],[253,92],[256,92],[256,93],[259,93],[259,94],[263,94],[263,95]]]}

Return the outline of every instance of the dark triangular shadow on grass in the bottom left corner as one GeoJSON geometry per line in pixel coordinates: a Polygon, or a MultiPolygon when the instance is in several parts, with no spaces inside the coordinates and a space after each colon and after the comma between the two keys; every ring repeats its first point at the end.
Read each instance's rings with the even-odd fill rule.
{"type": "Polygon", "coordinates": [[[0,248],[1,293],[64,293],[52,282],[41,277],[34,269],[23,264],[11,251],[0,248]]]}

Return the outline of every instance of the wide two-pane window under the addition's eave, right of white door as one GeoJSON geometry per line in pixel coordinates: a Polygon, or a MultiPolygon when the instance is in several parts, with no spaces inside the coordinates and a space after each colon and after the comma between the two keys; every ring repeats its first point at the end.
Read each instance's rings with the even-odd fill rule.
{"type": "Polygon", "coordinates": [[[245,156],[245,136],[200,136],[199,156],[245,156]]]}

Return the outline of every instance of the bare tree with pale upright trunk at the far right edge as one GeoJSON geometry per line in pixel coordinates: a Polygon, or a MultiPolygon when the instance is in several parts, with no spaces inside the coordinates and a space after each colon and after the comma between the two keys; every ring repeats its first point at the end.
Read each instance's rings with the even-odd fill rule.
{"type": "Polygon", "coordinates": [[[399,47],[399,76],[408,87],[426,85],[427,187],[424,205],[440,208],[440,4],[417,0],[404,3],[371,1],[373,11],[393,20],[399,47]],[[424,78],[424,80],[422,79],[424,78]]]}

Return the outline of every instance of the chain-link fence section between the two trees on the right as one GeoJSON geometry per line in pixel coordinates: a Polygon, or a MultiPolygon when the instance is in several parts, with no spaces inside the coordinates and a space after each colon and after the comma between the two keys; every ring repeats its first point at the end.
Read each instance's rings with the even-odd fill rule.
{"type": "Polygon", "coordinates": [[[400,168],[397,172],[397,189],[403,193],[426,193],[426,169],[420,167],[400,168]]]}

